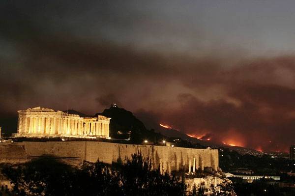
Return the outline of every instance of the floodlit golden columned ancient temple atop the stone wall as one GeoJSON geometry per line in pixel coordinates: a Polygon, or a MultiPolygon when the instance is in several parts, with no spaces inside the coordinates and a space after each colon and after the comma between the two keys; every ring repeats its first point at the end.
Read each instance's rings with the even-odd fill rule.
{"type": "Polygon", "coordinates": [[[29,108],[18,111],[15,137],[109,138],[110,119],[102,115],[81,117],[48,108],[29,108]]]}

